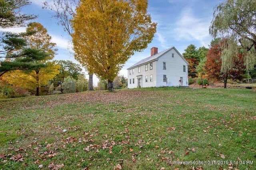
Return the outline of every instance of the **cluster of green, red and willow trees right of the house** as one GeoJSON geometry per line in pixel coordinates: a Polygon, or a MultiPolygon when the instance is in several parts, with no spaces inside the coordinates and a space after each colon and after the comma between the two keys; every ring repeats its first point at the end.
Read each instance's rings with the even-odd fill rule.
{"type": "MultiPolygon", "coordinates": [[[[227,0],[214,10],[209,49],[189,45],[184,57],[190,63],[189,76],[224,83],[256,78],[256,2],[227,0]]],[[[205,81],[208,83],[208,81],[205,81]]],[[[191,82],[192,83],[192,82],[191,82]]]]}

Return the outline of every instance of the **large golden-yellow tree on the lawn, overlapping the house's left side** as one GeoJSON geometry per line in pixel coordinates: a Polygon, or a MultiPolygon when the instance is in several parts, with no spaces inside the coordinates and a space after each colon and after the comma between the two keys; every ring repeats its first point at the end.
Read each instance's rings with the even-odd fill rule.
{"type": "Polygon", "coordinates": [[[147,0],[83,0],[74,16],[75,58],[99,78],[113,80],[135,51],[145,49],[156,33],[147,0]]]}

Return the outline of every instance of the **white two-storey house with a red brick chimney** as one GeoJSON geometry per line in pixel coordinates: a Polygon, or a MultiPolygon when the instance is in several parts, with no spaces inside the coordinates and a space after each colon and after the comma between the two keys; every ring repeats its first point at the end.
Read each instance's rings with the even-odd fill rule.
{"type": "Polygon", "coordinates": [[[128,88],[188,86],[188,62],[175,47],[151,56],[129,67],[128,88]]]}

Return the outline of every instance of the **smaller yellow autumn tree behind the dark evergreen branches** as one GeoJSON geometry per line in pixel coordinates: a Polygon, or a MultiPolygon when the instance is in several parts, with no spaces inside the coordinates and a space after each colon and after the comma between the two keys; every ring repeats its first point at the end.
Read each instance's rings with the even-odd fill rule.
{"type": "Polygon", "coordinates": [[[44,52],[47,57],[42,63],[46,63],[45,68],[38,68],[31,71],[16,70],[9,72],[3,79],[10,84],[23,86],[26,88],[36,88],[36,95],[39,96],[41,86],[45,86],[49,80],[59,73],[59,66],[55,62],[50,62],[56,55],[56,44],[52,43],[52,37],[48,34],[47,29],[37,22],[28,24],[26,29],[26,42],[32,49],[44,52]]]}

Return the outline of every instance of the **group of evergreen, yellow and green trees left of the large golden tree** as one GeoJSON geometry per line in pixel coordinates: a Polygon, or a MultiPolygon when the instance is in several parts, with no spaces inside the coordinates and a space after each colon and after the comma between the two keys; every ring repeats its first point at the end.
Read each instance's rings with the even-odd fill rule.
{"type": "MultiPolygon", "coordinates": [[[[0,92],[6,96],[83,92],[88,90],[80,64],[53,61],[56,43],[47,29],[34,20],[36,16],[20,14],[29,0],[3,0],[0,3],[0,27],[26,26],[24,33],[1,32],[0,92]],[[9,86],[10,85],[10,86],[9,86]]],[[[89,86],[90,87],[90,86],[89,86]]]]}

